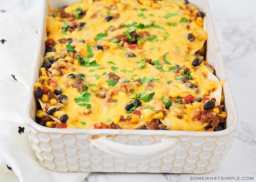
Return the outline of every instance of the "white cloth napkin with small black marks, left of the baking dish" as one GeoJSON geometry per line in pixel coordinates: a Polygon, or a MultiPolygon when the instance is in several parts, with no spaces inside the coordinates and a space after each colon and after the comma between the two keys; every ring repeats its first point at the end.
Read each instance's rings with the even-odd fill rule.
{"type": "Polygon", "coordinates": [[[42,0],[0,1],[0,181],[81,182],[89,173],[58,173],[35,158],[25,103],[42,0]]]}

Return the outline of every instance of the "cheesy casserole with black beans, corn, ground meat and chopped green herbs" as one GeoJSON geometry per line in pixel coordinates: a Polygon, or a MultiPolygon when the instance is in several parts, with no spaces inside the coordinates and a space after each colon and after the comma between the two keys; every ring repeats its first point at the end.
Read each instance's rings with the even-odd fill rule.
{"type": "Polygon", "coordinates": [[[204,60],[203,17],[169,0],[82,0],[49,11],[37,117],[48,127],[222,129],[225,80],[204,60]]]}

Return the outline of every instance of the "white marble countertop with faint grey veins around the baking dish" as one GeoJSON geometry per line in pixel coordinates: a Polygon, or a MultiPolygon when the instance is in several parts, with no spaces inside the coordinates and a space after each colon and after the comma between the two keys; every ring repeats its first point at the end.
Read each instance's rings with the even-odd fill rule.
{"type": "MultiPolygon", "coordinates": [[[[17,2],[19,0],[16,0],[17,2]]],[[[29,5],[32,0],[20,0],[20,4],[1,0],[0,10],[20,10],[21,4],[29,5]],[[5,3],[3,3],[5,2],[5,3]]],[[[240,126],[229,154],[222,166],[208,174],[167,174],[167,173],[90,173],[82,182],[187,182],[203,181],[194,177],[211,177],[214,181],[235,181],[249,177],[256,181],[256,82],[253,81],[256,61],[256,1],[255,0],[208,0],[219,47],[225,62],[227,79],[233,92],[238,110],[240,126]],[[231,177],[229,180],[221,180],[231,177]],[[233,178],[233,179],[232,179],[233,178]]],[[[23,7],[22,11],[26,11],[23,7]]],[[[1,37],[0,37],[1,38],[1,37]]],[[[1,43],[1,42],[0,42],[1,43]]],[[[0,60],[1,61],[1,60],[0,60]]],[[[1,148],[0,148],[1,149],[1,148]]],[[[8,181],[13,181],[10,178],[8,181]]],[[[16,178],[17,181],[17,178],[16,178]]],[[[16,182],[15,181],[15,182],[16,182]]],[[[207,180],[204,180],[207,181],[207,180]]]]}

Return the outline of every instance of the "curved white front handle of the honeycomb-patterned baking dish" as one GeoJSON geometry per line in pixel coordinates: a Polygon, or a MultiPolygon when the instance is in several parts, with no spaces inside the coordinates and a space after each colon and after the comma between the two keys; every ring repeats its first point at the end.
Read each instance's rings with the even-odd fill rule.
{"type": "Polygon", "coordinates": [[[180,141],[175,138],[163,138],[161,142],[151,145],[126,145],[117,143],[101,136],[90,141],[92,148],[98,148],[105,153],[122,159],[155,159],[172,155],[180,150],[180,141]]]}

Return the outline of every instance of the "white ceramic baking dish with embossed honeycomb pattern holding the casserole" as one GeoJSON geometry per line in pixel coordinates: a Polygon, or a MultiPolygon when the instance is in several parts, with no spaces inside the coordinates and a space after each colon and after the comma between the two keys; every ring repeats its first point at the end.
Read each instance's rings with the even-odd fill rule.
{"type": "MultiPolygon", "coordinates": [[[[60,8],[74,0],[49,1],[60,8]]],[[[207,0],[191,0],[206,12],[207,59],[219,79],[226,79],[207,0]]],[[[35,156],[46,169],[69,172],[197,173],[218,169],[233,143],[238,116],[229,82],[224,84],[226,129],[215,132],[119,129],[57,129],[35,122],[37,99],[33,84],[39,77],[46,40],[46,2],[42,4],[38,48],[27,102],[27,129],[35,156]]]]}

